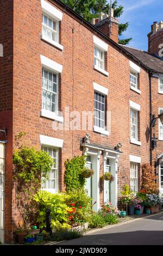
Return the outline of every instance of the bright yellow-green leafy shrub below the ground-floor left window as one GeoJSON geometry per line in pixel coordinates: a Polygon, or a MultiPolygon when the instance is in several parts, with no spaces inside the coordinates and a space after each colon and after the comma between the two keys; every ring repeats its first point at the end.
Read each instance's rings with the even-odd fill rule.
{"type": "Polygon", "coordinates": [[[71,208],[67,206],[66,193],[55,193],[52,194],[47,191],[39,191],[34,196],[34,200],[39,208],[39,217],[37,222],[39,222],[40,228],[46,227],[46,210],[51,210],[51,228],[60,229],[70,228],[68,224],[68,211],[71,211],[71,208]]]}

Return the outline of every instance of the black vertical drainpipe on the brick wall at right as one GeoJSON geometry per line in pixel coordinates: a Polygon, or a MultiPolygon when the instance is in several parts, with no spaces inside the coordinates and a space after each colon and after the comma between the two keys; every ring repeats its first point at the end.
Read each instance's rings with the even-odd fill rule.
{"type": "Polygon", "coordinates": [[[150,115],[150,164],[152,166],[152,71],[149,71],[149,115],[150,115]]]}

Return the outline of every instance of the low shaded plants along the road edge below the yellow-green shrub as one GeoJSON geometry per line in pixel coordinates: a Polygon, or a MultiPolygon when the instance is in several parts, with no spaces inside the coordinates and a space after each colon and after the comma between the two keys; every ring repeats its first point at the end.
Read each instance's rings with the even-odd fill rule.
{"type": "Polygon", "coordinates": [[[61,228],[59,230],[56,230],[53,233],[51,240],[52,241],[71,240],[71,239],[76,239],[82,236],[83,236],[82,231],[61,228]]]}

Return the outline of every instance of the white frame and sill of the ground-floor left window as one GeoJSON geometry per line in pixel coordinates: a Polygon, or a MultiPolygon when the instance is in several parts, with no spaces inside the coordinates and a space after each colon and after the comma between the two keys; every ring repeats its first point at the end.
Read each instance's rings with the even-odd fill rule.
{"type": "Polygon", "coordinates": [[[54,180],[55,181],[55,188],[45,188],[44,187],[45,182],[42,183],[42,190],[45,190],[45,191],[48,191],[48,192],[51,192],[51,193],[55,194],[59,190],[59,149],[55,148],[55,147],[52,147],[52,146],[48,146],[48,145],[41,145],[41,149],[42,148],[47,148],[48,150],[49,149],[55,149],[56,150],[56,159],[57,159],[57,161],[55,163],[56,167],[54,168],[54,169],[56,169],[55,170],[55,180],[54,180]]]}

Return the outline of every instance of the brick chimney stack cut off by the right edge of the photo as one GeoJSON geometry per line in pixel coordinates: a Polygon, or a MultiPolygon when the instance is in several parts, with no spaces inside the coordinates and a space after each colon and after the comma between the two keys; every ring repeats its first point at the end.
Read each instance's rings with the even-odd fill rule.
{"type": "Polygon", "coordinates": [[[148,34],[148,52],[159,56],[160,45],[163,44],[163,22],[154,21],[148,34]]]}

